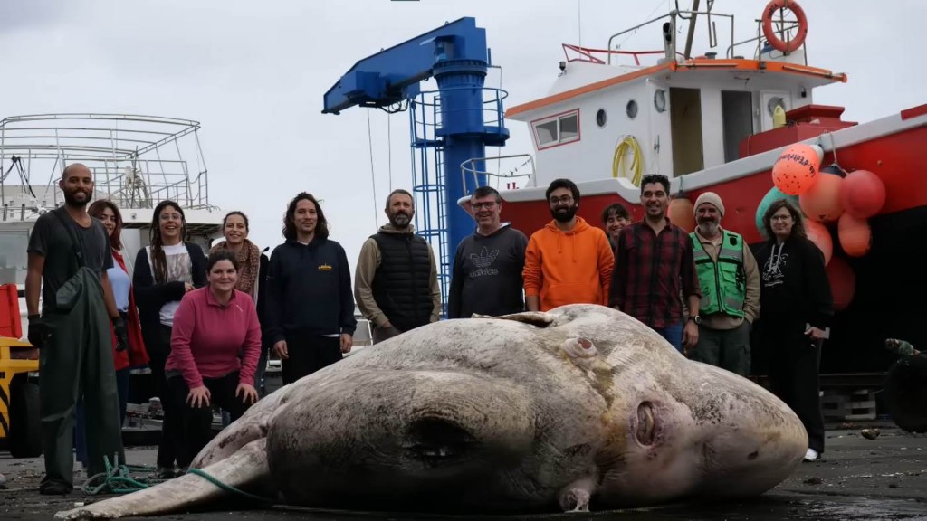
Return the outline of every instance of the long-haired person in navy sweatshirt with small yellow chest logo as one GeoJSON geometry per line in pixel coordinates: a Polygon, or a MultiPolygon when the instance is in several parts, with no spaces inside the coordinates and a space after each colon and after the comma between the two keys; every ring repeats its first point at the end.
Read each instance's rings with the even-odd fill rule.
{"type": "Polygon", "coordinates": [[[328,236],[318,199],[293,197],[283,231],[286,242],[273,248],[267,268],[263,325],[286,385],[350,352],[357,319],[348,256],[328,236]]]}

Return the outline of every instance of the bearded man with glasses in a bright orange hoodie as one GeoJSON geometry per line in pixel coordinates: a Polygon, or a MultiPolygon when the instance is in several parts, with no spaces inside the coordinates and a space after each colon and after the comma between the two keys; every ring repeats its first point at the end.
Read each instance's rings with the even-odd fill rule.
{"type": "Polygon", "coordinates": [[[546,197],[553,220],[531,235],[525,252],[527,310],[605,304],[615,263],[608,237],[577,216],[576,183],[555,179],[546,197]]]}

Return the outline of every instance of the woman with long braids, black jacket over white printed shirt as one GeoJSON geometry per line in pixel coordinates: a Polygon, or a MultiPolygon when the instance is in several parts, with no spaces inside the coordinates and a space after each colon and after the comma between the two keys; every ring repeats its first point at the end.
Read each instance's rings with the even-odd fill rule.
{"type": "Polygon", "coordinates": [[[160,479],[167,479],[174,477],[180,425],[170,400],[164,362],[171,354],[173,314],[180,300],[186,292],[206,286],[206,256],[196,243],[184,241],[184,210],[173,201],[161,201],[155,207],[149,234],[151,245],[135,257],[133,287],[155,394],[164,410],[157,473],[160,479]]]}

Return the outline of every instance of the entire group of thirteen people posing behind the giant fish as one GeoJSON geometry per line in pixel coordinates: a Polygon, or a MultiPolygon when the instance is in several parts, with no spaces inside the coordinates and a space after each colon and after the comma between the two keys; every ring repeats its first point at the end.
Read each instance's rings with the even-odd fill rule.
{"type": "MultiPolygon", "coordinates": [[[[270,353],[281,360],[285,384],[341,360],[357,327],[355,301],[374,343],[440,318],[437,262],[414,233],[406,190],[387,197],[388,223],[363,243],[352,287],[345,250],[329,238],[311,194],[289,202],[286,241],[270,257],[248,239],[244,213],[225,216],[224,240],[207,255],[185,240],[180,205],[161,201],[130,277],[119,209],[107,200],[89,204],[92,172],[70,164],[59,187],[65,204],[35,223],[26,279],[28,336],[42,375],[42,493],[73,489],[75,440],[90,476],[105,470],[105,458],[124,461],[131,367],[151,369],[164,413],[157,473],[170,478],[208,443],[213,404],[234,421],[260,399],[270,353]]],[[[644,219],[631,222],[614,204],[598,228],[577,215],[577,185],[558,179],[546,192],[552,221],[528,237],[502,222],[498,191],[477,188],[469,201],[476,230],[454,255],[448,318],[607,305],[692,359],[739,375],[749,372],[756,328],[762,333],[754,337],[775,353],[773,390],[805,422],[806,458],[816,459],[820,342],[832,306],[801,213],[786,200],[771,205],[770,238],[755,256],[741,235],[721,228],[717,195],[698,198],[698,229],[689,234],[667,219],[668,193],[666,176],[645,176],[644,219]]]]}

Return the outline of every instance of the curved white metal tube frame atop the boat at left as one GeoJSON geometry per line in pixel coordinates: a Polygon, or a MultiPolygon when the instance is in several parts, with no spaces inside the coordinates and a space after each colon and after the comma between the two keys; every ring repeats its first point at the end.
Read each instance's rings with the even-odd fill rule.
{"type": "Polygon", "coordinates": [[[95,198],[122,209],[150,209],[164,198],[184,209],[210,209],[199,128],[198,121],[131,114],[6,118],[0,121],[0,201],[10,208],[56,208],[63,203],[62,169],[80,162],[94,174],[95,198]]]}

